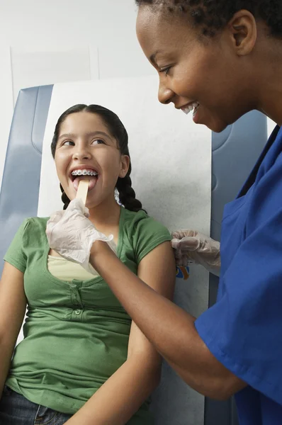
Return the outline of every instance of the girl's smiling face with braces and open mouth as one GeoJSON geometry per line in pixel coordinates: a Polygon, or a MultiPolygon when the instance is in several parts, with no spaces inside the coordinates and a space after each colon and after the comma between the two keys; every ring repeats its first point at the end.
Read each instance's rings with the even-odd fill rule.
{"type": "Polygon", "coordinates": [[[76,197],[81,179],[89,180],[88,208],[114,200],[115,183],[126,175],[129,164],[129,157],[120,154],[118,141],[98,114],[72,113],[62,123],[55,165],[70,200],[76,197]]]}

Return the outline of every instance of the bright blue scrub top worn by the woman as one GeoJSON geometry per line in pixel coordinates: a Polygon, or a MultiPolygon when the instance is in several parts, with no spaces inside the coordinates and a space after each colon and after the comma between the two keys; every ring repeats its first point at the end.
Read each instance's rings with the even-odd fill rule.
{"type": "MultiPolygon", "coordinates": [[[[239,166],[238,166],[239,173],[239,166]]],[[[277,126],[222,219],[218,300],[198,334],[248,386],[241,425],[282,424],[282,128],[277,126]]]]}

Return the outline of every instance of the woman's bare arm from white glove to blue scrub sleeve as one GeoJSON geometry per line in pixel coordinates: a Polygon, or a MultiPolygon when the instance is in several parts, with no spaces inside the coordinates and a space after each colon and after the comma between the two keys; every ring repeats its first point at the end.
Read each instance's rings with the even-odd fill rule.
{"type": "Polygon", "coordinates": [[[205,346],[191,314],[142,282],[105,243],[95,242],[90,261],[137,327],[188,385],[215,399],[229,395],[234,375],[205,346]]]}

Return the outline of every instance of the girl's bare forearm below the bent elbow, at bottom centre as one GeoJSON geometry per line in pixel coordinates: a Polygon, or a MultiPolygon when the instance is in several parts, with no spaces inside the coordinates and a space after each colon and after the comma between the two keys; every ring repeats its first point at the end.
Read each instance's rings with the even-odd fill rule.
{"type": "Polygon", "coordinates": [[[125,425],[159,382],[159,365],[128,359],[66,425],[125,425]]]}

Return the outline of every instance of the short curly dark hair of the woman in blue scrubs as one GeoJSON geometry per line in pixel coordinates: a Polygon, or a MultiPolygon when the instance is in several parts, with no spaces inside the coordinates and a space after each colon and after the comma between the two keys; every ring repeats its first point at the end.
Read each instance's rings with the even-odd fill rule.
{"type": "Polygon", "coordinates": [[[281,0],[135,0],[135,3],[156,8],[162,4],[167,5],[170,13],[188,13],[196,26],[201,26],[203,35],[210,37],[224,28],[237,11],[246,9],[266,23],[270,35],[282,38],[281,0]]]}

